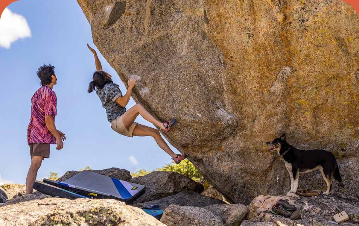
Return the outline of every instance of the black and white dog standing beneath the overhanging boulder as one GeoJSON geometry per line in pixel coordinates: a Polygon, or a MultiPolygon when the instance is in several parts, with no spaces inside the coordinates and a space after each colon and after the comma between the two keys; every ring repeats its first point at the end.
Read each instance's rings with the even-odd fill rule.
{"type": "Polygon", "coordinates": [[[268,150],[276,150],[282,156],[285,167],[290,176],[290,191],[297,192],[299,173],[320,170],[323,179],[327,183],[327,190],[323,194],[328,195],[332,190],[332,180],[341,183],[339,167],[334,155],[325,150],[300,150],[288,144],[285,140],[285,133],[280,138],[267,142],[268,150]]]}

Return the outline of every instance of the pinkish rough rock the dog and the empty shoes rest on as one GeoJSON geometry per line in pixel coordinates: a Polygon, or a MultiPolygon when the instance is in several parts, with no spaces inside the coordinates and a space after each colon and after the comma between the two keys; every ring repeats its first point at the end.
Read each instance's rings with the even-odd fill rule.
{"type": "Polygon", "coordinates": [[[257,222],[273,221],[278,225],[331,225],[328,220],[333,221],[333,216],[339,209],[349,216],[349,221],[341,225],[359,225],[359,200],[336,192],[328,196],[319,194],[313,197],[260,195],[252,200],[247,218],[257,222]],[[272,214],[270,210],[278,199],[288,199],[290,204],[300,206],[302,217],[293,222],[289,218],[272,214]]]}

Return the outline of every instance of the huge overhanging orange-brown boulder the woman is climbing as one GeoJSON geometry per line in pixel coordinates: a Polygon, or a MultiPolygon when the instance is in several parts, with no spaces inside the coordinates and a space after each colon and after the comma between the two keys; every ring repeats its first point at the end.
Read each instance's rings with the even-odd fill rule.
{"type": "Polygon", "coordinates": [[[164,136],[229,201],[289,190],[283,162],[265,151],[283,132],[297,148],[334,153],[341,192],[359,194],[346,169],[359,162],[359,19],[349,4],[77,1],[122,82],[136,76],[134,100],[177,119],[164,136]]]}

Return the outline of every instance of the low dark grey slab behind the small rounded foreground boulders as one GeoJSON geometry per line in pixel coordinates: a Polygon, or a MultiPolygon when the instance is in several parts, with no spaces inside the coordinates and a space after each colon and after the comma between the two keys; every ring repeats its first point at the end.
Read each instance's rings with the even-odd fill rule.
{"type": "Polygon", "coordinates": [[[214,204],[225,204],[225,202],[219,199],[214,199],[208,196],[200,195],[196,192],[183,191],[162,199],[153,200],[144,203],[136,203],[133,206],[141,208],[144,206],[150,206],[152,204],[158,204],[160,208],[164,210],[171,204],[177,206],[205,207],[214,204]]]}

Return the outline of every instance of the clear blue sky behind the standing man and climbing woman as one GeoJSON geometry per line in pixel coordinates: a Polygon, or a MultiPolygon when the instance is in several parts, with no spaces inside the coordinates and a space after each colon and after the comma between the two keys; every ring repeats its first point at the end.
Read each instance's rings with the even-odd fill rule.
{"type": "MultiPolygon", "coordinates": [[[[96,170],[119,167],[132,171],[153,170],[171,162],[153,138],[129,138],[114,132],[96,94],[87,93],[95,65],[86,43],[97,48],[92,42],[90,25],[75,0],[20,0],[8,9],[26,19],[31,35],[23,34],[26,26],[7,24],[14,26],[6,30],[9,35],[16,36],[16,29],[21,28],[18,36],[25,37],[11,42],[8,48],[1,46],[8,37],[0,34],[3,39],[0,40],[0,183],[25,183],[31,162],[27,145],[31,97],[40,87],[36,71],[44,63],[55,66],[58,79],[53,89],[58,99],[55,124],[67,139],[60,151],[51,146],[50,159],[43,161],[37,179],[47,177],[51,171],[63,175],[87,165],[96,170]]],[[[113,75],[114,82],[125,93],[126,88],[115,70],[97,52],[103,69],[113,75]]],[[[131,98],[127,109],[133,105],[131,98]]],[[[154,127],[141,117],[136,121],[154,127]]],[[[178,153],[175,148],[173,151],[178,153]]]]}

